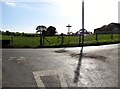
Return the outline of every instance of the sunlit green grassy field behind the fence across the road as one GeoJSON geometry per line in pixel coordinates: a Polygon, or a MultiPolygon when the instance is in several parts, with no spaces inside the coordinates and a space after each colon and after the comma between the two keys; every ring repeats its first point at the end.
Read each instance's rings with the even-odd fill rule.
{"type": "MultiPolygon", "coordinates": [[[[96,35],[85,36],[84,43],[85,45],[99,45],[99,44],[109,44],[109,43],[119,43],[120,34],[99,34],[98,40],[96,40],[96,35]]],[[[25,37],[25,36],[7,36],[0,35],[1,40],[11,40],[10,47],[40,47],[40,38],[39,37],[25,37]]],[[[55,46],[78,46],[79,36],[64,36],[63,42],[60,36],[51,36],[45,37],[44,45],[42,47],[55,47],[55,46]]]]}

